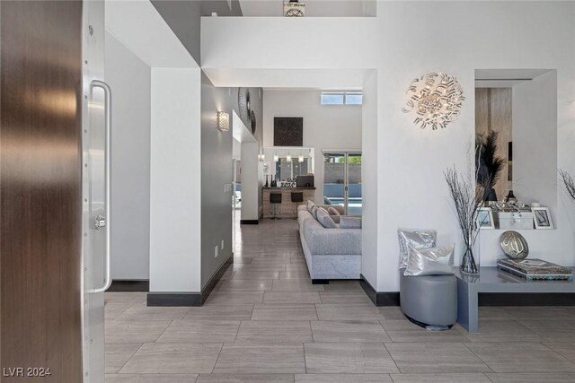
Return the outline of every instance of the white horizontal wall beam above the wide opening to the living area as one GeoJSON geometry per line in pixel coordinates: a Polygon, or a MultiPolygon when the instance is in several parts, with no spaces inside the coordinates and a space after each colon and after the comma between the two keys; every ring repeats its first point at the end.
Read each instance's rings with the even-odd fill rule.
{"type": "Polygon", "coordinates": [[[375,36],[376,25],[373,17],[202,17],[201,65],[373,68],[378,46],[364,37],[375,36]]]}

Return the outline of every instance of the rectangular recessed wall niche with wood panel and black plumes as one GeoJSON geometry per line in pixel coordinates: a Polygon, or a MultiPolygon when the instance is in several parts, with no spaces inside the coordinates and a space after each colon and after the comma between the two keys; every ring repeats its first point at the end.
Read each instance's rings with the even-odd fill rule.
{"type": "Polygon", "coordinates": [[[475,71],[477,181],[491,178],[488,201],[516,197],[557,205],[557,72],[475,71]]]}

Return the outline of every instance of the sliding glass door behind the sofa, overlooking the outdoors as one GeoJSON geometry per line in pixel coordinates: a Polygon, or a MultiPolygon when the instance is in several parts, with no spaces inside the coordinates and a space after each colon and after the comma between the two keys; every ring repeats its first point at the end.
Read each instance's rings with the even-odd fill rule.
{"type": "Polygon", "coordinates": [[[348,215],[361,215],[361,153],[323,153],[323,199],[341,205],[348,215]]]}

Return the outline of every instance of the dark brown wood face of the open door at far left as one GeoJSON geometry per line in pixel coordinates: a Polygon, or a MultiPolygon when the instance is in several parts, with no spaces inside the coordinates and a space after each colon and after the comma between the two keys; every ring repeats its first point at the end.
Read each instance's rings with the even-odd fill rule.
{"type": "Polygon", "coordinates": [[[81,29],[81,2],[0,2],[3,383],[82,381],[81,29]]]}

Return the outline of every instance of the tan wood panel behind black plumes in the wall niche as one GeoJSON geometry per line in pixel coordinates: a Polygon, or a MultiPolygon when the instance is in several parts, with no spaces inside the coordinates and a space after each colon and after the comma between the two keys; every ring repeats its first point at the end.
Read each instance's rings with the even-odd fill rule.
{"type": "MultiPolygon", "coordinates": [[[[509,142],[513,141],[511,88],[475,89],[475,133],[487,135],[499,132],[499,155],[509,159],[509,142]]],[[[500,181],[495,185],[498,199],[507,196],[511,187],[508,163],[501,170],[500,181]]]]}

